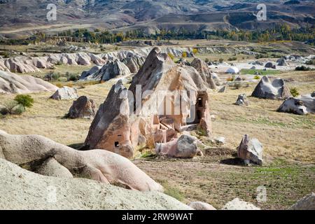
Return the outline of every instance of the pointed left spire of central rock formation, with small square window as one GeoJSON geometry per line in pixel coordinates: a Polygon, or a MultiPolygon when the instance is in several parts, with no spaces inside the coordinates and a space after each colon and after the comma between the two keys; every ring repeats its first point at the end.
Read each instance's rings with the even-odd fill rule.
{"type": "Polygon", "coordinates": [[[106,101],[99,107],[85,139],[87,148],[106,149],[126,158],[132,158],[134,155],[130,141],[129,102],[127,94],[122,97],[124,91],[127,89],[122,81],[111,88],[106,101]]]}

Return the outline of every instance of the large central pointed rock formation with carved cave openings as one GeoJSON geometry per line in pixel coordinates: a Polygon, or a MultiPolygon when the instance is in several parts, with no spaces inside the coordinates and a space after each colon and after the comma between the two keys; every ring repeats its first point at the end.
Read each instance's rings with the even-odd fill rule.
{"type": "MultiPolygon", "coordinates": [[[[134,148],[139,144],[154,147],[156,143],[167,144],[174,140],[172,147],[176,148],[175,145],[181,142],[176,137],[177,133],[181,132],[181,127],[186,123],[195,123],[210,135],[211,118],[207,89],[213,85],[211,73],[207,71],[207,64],[203,66],[202,62],[195,62],[200,72],[193,66],[175,64],[160,48],[154,48],[132,79],[129,88],[129,93],[137,96],[137,88],[141,85],[141,104],[137,103],[137,98],[130,99],[127,88],[118,81],[97,111],[85,140],[85,148],[102,148],[132,158],[134,148]],[[171,108],[167,111],[175,111],[176,106],[172,96],[165,96],[161,102],[160,90],[190,92],[189,96],[181,95],[183,100],[179,114],[160,114],[164,106],[162,102],[171,102],[171,108]],[[151,94],[146,95],[147,92],[151,94]],[[191,107],[192,105],[195,108],[191,107]],[[195,113],[195,120],[190,120],[192,111],[195,113]]],[[[191,150],[195,152],[196,149],[192,147],[191,150]]]]}

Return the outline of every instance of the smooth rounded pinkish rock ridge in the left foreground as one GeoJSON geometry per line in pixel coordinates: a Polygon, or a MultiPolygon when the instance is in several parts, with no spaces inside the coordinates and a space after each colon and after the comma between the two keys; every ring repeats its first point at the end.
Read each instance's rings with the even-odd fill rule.
{"type": "Polygon", "coordinates": [[[104,150],[76,151],[38,135],[10,135],[0,131],[0,158],[45,175],[68,178],[70,172],[75,177],[132,190],[162,191],[160,184],[116,153],[104,150]],[[69,172],[60,172],[60,169],[69,172]]]}

